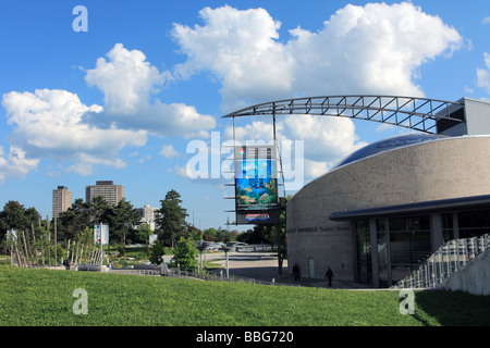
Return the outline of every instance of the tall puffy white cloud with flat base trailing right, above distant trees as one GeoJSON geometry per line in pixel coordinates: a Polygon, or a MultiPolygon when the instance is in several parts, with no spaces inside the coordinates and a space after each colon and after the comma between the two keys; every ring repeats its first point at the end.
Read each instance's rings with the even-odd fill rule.
{"type": "Polygon", "coordinates": [[[88,120],[93,124],[115,124],[119,128],[145,129],[155,135],[187,135],[212,129],[215,117],[201,115],[195,107],[163,103],[152,96],[171,76],[146,61],[139,50],[117,44],[88,70],[85,80],[105,96],[105,112],[88,120]]]}

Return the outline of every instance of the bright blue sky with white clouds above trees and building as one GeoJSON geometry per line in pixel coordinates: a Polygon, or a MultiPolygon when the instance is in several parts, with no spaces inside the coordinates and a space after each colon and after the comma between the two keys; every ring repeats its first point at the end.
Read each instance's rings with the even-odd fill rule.
{"type": "MultiPolygon", "coordinates": [[[[57,186],[85,198],[86,185],[111,179],[135,207],[175,189],[189,222],[225,228],[230,181],[185,169],[188,148],[229,139],[231,111],[305,96],[490,98],[487,0],[2,0],[0,32],[0,206],[42,216],[57,186]],[[87,32],[73,29],[76,5],[87,32]]],[[[310,116],[278,126],[304,141],[305,183],[406,132],[310,116]]],[[[237,127],[270,139],[269,120],[237,127]]]]}

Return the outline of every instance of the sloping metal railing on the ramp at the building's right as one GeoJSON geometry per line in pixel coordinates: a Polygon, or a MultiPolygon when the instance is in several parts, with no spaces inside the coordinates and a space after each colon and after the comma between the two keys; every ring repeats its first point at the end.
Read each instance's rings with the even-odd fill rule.
{"type": "Polygon", "coordinates": [[[441,246],[417,270],[392,288],[436,288],[453,272],[490,247],[490,235],[454,239],[441,246]]]}

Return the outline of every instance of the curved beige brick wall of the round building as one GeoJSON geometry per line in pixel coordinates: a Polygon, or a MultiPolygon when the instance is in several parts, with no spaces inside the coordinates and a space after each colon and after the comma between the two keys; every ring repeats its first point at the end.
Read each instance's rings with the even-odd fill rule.
{"type": "Polygon", "coordinates": [[[352,281],[351,223],[330,221],[332,212],[490,195],[489,149],[490,136],[421,142],[346,164],[307,184],[286,208],[289,264],[298,262],[303,276],[315,278],[330,266],[338,279],[352,281]]]}

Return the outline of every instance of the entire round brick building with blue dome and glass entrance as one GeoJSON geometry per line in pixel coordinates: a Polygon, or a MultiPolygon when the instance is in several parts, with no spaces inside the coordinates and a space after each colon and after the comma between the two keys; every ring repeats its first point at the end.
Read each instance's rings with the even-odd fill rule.
{"type": "Polygon", "coordinates": [[[443,243],[490,233],[490,103],[461,101],[463,122],[368,145],[298,190],[289,264],[389,287],[443,243]]]}

